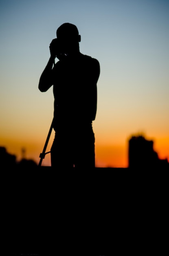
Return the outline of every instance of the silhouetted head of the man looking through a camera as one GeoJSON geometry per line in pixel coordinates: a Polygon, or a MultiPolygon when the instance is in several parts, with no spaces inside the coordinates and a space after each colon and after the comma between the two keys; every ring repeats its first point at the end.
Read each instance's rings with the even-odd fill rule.
{"type": "Polygon", "coordinates": [[[64,23],[56,31],[57,39],[64,52],[74,53],[79,51],[81,36],[77,27],[71,23],[64,23]]]}

